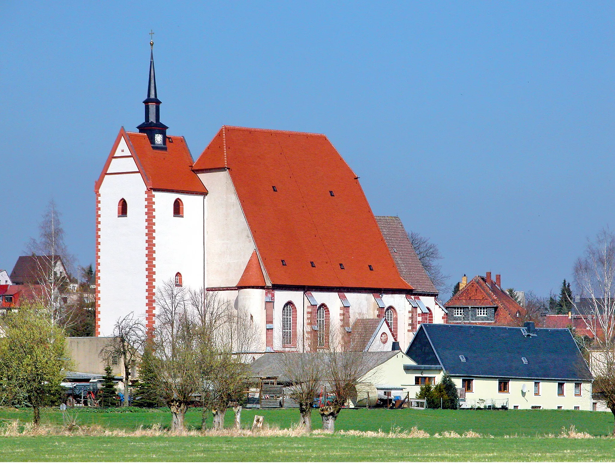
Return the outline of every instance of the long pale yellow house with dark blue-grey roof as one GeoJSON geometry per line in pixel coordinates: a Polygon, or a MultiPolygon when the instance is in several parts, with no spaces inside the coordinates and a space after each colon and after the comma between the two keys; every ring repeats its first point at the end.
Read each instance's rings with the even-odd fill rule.
{"type": "Polygon", "coordinates": [[[462,408],[593,410],[593,377],[567,329],[421,325],[406,354],[416,390],[449,373],[462,408]]]}

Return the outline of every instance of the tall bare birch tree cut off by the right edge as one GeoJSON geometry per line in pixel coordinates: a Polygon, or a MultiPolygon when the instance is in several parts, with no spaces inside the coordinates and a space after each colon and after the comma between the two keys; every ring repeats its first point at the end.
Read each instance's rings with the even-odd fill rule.
{"type": "MultiPolygon", "coordinates": [[[[587,240],[574,266],[574,279],[581,296],[589,300],[582,320],[595,346],[591,355],[593,390],[615,416],[615,234],[608,228],[594,240],[587,240]]],[[[575,301],[570,302],[581,312],[575,301]]]]}

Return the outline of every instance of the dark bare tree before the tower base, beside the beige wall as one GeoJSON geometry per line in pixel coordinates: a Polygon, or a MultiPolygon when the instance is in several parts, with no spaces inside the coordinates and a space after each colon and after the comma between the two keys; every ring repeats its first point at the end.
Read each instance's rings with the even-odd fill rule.
{"type": "MultiPolygon", "coordinates": [[[[113,327],[113,341],[103,347],[100,354],[111,364],[112,358],[121,359],[124,370],[124,406],[129,406],[130,371],[135,368],[140,353],[145,346],[145,325],[133,312],[118,319],[113,327]]],[[[134,378],[132,378],[134,379],[134,378]]]]}

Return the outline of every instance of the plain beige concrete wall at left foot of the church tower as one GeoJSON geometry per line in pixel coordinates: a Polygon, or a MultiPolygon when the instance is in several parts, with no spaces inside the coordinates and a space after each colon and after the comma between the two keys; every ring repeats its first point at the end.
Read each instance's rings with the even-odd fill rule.
{"type": "MultiPolygon", "coordinates": [[[[109,346],[113,338],[66,338],[66,347],[73,365],[72,371],[79,373],[105,374],[106,362],[100,355],[101,350],[109,346]]],[[[113,374],[124,376],[122,359],[117,359],[113,374]]]]}

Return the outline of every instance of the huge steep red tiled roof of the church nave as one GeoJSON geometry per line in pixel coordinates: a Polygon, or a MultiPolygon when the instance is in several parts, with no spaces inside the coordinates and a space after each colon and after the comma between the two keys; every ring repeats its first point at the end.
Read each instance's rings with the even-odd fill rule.
{"type": "Polygon", "coordinates": [[[325,135],[224,126],[193,167],[213,168],[229,169],[273,285],[411,290],[325,135]]]}

